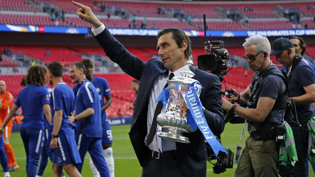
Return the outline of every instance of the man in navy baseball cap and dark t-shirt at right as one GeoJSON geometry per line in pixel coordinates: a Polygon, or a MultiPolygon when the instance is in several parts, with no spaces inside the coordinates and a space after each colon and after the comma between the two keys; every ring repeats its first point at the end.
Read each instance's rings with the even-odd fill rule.
{"type": "Polygon", "coordinates": [[[282,66],[287,67],[289,80],[289,96],[292,97],[296,105],[296,114],[300,126],[294,122],[289,122],[295,140],[295,147],[298,161],[295,166],[281,167],[281,176],[307,176],[306,156],[308,149],[308,128],[307,122],[314,117],[312,103],[315,102],[315,79],[311,67],[306,62],[301,61],[302,56],[295,54],[292,41],[281,37],[272,44],[271,55],[276,56],[276,60],[282,66]]]}

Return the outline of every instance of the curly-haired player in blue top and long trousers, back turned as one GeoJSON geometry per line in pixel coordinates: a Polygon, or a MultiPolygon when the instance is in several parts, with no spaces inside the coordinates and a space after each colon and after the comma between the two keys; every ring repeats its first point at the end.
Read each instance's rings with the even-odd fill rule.
{"type": "Polygon", "coordinates": [[[35,177],[39,156],[43,148],[43,111],[47,120],[51,120],[49,93],[43,87],[46,82],[46,73],[47,69],[42,65],[29,67],[25,77],[26,87],[19,92],[11,111],[5,117],[0,128],[0,134],[3,134],[6,124],[21,106],[24,118],[20,127],[20,134],[26,152],[27,177],[35,177]]]}

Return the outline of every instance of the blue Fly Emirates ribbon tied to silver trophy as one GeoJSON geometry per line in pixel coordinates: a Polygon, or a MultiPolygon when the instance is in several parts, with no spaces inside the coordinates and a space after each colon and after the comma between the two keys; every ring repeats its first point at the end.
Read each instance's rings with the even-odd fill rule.
{"type": "MultiPolygon", "coordinates": [[[[192,127],[195,131],[195,127],[199,128],[212,150],[215,153],[215,157],[218,156],[219,151],[226,152],[226,149],[221,145],[221,143],[216,140],[214,134],[210,130],[206,118],[202,111],[202,104],[199,99],[201,92],[201,84],[199,82],[193,82],[189,84],[188,91],[186,94],[183,94],[183,98],[189,109],[187,113],[187,124],[192,127]]],[[[166,104],[169,99],[169,88],[165,88],[162,93],[157,97],[157,101],[162,101],[163,105],[166,107],[166,104]]]]}

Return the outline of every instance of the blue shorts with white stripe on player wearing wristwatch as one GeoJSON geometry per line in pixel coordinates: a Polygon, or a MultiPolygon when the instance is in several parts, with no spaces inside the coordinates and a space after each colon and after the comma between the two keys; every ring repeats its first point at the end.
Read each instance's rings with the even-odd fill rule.
{"type": "MultiPolygon", "coordinates": [[[[51,139],[51,136],[50,136],[51,139]]],[[[57,163],[57,166],[63,164],[75,165],[81,163],[81,157],[77,149],[77,144],[74,139],[74,129],[71,127],[60,128],[57,138],[58,149],[54,152],[52,163],[57,163]]],[[[52,151],[50,149],[50,151],[52,151]]]]}

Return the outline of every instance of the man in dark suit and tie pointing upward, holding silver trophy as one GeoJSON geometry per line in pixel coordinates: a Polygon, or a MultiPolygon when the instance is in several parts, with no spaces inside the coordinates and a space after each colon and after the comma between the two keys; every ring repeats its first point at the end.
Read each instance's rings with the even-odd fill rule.
{"type": "MultiPolygon", "coordinates": [[[[142,168],[142,176],[206,176],[206,157],[204,136],[199,129],[185,134],[190,143],[179,143],[161,139],[157,136],[156,99],[171,76],[180,76],[187,69],[186,62],[191,55],[191,41],[180,29],[167,28],[159,32],[157,50],[160,59],[143,62],[129,53],[93,14],[89,7],[75,3],[77,15],[89,22],[95,39],[106,55],[117,63],[124,72],[140,80],[134,114],[132,117],[130,140],[142,168]],[[153,125],[153,137],[150,136],[153,125]],[[156,126],[156,127],[155,127],[156,126]]],[[[194,79],[203,86],[200,100],[204,106],[206,121],[215,135],[224,129],[221,101],[221,83],[213,74],[190,68],[194,79]]],[[[163,110],[163,109],[162,109],[163,110]]],[[[161,113],[161,109],[158,110],[161,113]]],[[[185,102],[181,112],[187,113],[185,102]]]]}

